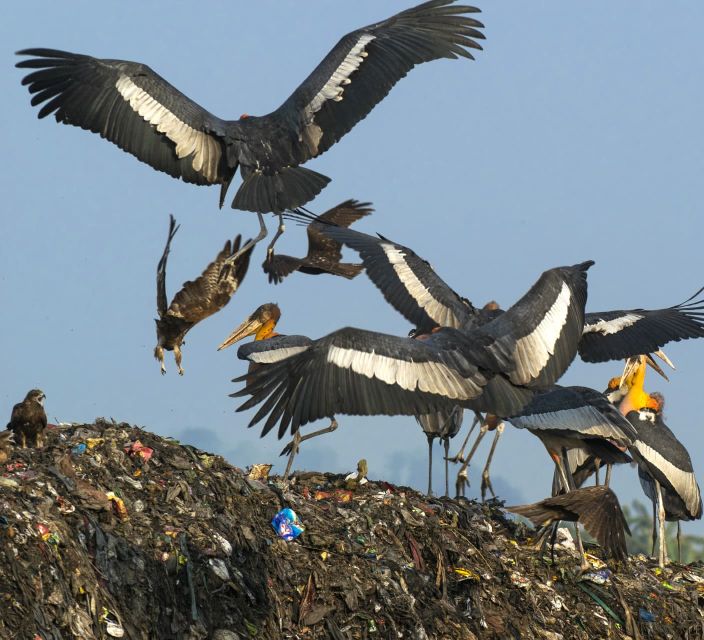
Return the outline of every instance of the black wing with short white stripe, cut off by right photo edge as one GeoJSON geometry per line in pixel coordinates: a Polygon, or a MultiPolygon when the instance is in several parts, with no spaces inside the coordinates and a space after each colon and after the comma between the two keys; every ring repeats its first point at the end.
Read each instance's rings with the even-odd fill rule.
{"type": "Polygon", "coordinates": [[[587,313],[579,355],[586,362],[622,360],[704,337],[704,298],[697,297],[702,291],[667,309],[587,313]]]}

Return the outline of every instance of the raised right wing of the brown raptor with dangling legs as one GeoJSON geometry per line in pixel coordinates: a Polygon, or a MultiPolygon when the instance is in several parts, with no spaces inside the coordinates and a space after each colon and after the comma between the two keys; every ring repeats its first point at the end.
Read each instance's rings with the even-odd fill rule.
{"type": "Polygon", "coordinates": [[[230,301],[247,273],[254,249],[252,245],[233,265],[225,267],[227,259],[239,251],[241,240],[239,235],[232,243],[228,240],[198,278],[183,283],[171,301],[168,315],[196,324],[220,311],[230,301]]]}

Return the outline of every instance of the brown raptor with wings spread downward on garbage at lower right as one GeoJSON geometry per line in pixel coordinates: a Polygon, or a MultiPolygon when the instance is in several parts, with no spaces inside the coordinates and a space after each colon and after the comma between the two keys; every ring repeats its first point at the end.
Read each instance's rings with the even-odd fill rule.
{"type": "Polygon", "coordinates": [[[584,525],[589,535],[619,561],[628,557],[625,533],[631,535],[616,494],[608,487],[584,487],[533,504],[506,507],[528,518],[536,527],[565,520],[584,525]]]}

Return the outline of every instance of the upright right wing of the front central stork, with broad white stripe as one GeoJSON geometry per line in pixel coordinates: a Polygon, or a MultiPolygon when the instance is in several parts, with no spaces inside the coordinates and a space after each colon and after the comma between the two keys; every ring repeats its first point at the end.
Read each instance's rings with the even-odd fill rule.
{"type": "Polygon", "coordinates": [[[592,264],[546,271],[508,311],[471,332],[485,340],[511,382],[545,389],[569,367],[582,336],[592,264]]]}

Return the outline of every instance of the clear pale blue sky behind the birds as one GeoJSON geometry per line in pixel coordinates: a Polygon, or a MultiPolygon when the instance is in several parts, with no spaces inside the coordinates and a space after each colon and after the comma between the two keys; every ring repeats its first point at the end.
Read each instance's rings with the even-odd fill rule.
{"type": "MultiPolygon", "coordinates": [[[[0,413],[9,417],[41,387],[52,421],[112,416],[241,466],[283,461],[282,442],[260,439],[234,413],[230,380],[244,364],[233,349],[215,350],[229,331],[270,301],[282,308],[282,333],[410,328],[364,275],[296,274],[268,285],[260,248],[230,305],[187,336],[186,375],[169,353],[162,377],[153,318],[168,214],[181,223],[169,296],[228,237],[256,233],[256,216],[219,211],[217,188],[157,173],[94,134],[38,121],[14,51],[141,61],[211,112],[236,118],[276,108],[344,33],[411,2],[14,4],[0,24],[0,413]]],[[[586,259],[596,260],[590,310],[688,297],[704,284],[704,4],[485,0],[481,8],[487,40],[476,61],[415,69],[308,165],[333,178],[312,208],[373,202],[376,213],[359,229],[414,248],[476,304],[508,306],[543,270],[586,259]]],[[[304,252],[304,230],[291,225],[278,247],[304,252]]],[[[667,422],[701,480],[704,343],[666,352],[677,371],[667,385],[651,377],[649,388],[665,393],[667,422]]],[[[602,389],[620,369],[577,362],[561,382],[602,389]]],[[[296,466],[348,471],[361,457],[372,477],[424,486],[426,441],[412,418],[341,416],[336,433],[305,443],[296,466]]],[[[551,473],[540,443],[508,427],[494,465],[501,496],[545,497],[551,473]]],[[[643,498],[634,469],[619,470],[615,486],[626,502],[643,498]]]]}

